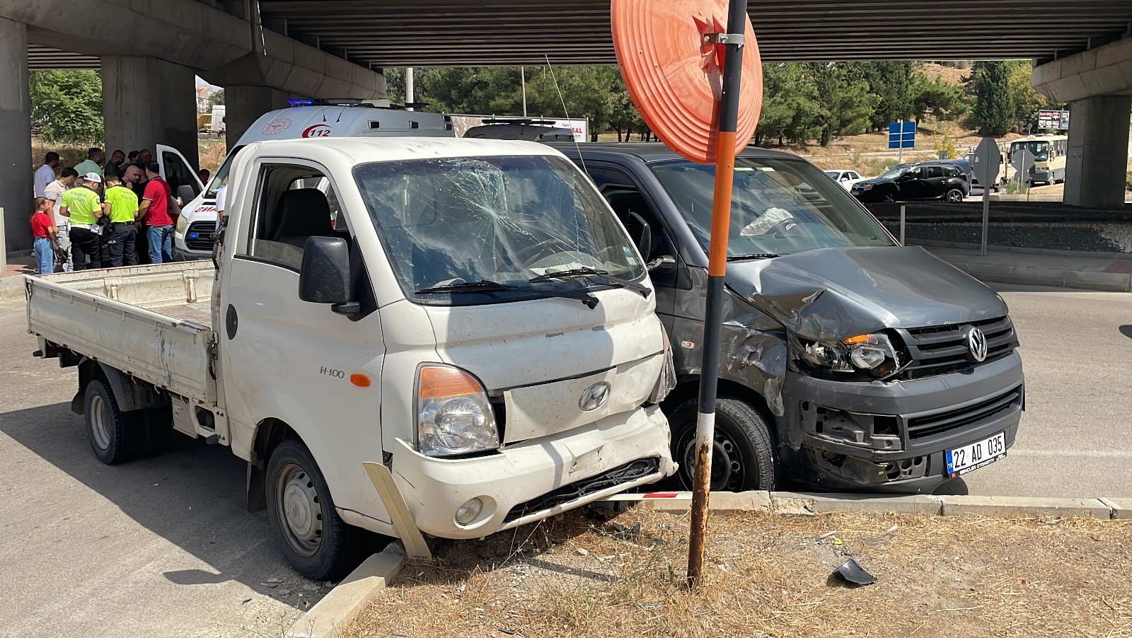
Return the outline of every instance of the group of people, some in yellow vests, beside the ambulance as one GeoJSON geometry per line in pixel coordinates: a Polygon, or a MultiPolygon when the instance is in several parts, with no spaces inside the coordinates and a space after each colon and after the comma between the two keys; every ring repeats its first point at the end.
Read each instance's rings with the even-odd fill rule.
{"type": "Polygon", "coordinates": [[[35,172],[31,223],[41,275],[173,260],[180,209],[149,150],[114,150],[106,162],[91,148],[55,176],[58,166],[51,152],[35,172]]]}

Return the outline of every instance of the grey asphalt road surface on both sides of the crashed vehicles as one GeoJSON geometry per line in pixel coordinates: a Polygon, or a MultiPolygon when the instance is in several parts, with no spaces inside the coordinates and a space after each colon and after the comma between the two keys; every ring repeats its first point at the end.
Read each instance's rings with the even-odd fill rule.
{"type": "MultiPolygon", "coordinates": [[[[1002,290],[1029,409],[1009,456],[953,486],[1132,497],[1132,295],[1002,290]]],[[[278,636],[327,590],[243,510],[228,448],[174,436],[158,457],[95,460],[74,372],[32,359],[25,325],[22,302],[0,303],[0,636],[278,636]]]]}

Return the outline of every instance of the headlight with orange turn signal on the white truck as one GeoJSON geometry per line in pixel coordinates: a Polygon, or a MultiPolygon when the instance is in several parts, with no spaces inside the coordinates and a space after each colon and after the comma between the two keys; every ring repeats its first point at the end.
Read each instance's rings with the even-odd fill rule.
{"type": "Polygon", "coordinates": [[[449,365],[420,368],[417,447],[424,456],[453,456],[499,447],[495,411],[474,377],[449,365]]]}

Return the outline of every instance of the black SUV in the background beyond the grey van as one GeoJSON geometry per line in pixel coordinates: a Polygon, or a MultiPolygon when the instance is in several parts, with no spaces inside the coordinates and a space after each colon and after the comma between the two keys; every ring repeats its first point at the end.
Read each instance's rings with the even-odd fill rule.
{"type": "Polygon", "coordinates": [[[897,166],[872,180],[861,180],[849,191],[865,204],[911,199],[960,202],[971,192],[970,176],[951,163],[924,162],[897,166]]]}

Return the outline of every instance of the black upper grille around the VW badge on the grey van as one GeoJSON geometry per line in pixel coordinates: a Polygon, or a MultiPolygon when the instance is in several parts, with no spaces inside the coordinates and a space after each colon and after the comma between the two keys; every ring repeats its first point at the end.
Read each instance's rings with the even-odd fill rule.
{"type": "Polygon", "coordinates": [[[963,328],[967,326],[977,327],[987,337],[987,357],[981,363],[1002,359],[1018,347],[1018,336],[1010,317],[899,330],[912,357],[902,377],[923,379],[980,365],[981,363],[971,359],[971,351],[967,347],[963,336],[963,328]]]}

